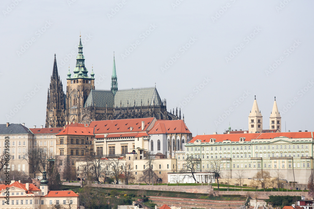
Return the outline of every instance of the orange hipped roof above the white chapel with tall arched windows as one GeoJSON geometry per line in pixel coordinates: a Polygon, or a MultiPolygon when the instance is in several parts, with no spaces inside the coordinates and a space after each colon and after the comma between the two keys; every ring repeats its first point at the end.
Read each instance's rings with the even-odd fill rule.
{"type": "Polygon", "coordinates": [[[183,120],[163,120],[157,121],[148,134],[161,133],[191,133],[183,120]]]}

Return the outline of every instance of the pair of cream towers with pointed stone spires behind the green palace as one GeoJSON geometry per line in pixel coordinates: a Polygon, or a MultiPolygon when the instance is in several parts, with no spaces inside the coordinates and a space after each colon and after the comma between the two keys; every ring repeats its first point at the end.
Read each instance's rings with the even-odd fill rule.
{"type": "Polygon", "coordinates": [[[249,133],[262,133],[262,132],[281,132],[281,117],[278,111],[276,97],[273,105],[273,111],[269,117],[269,129],[263,130],[263,116],[258,109],[256,96],[254,99],[253,107],[249,115],[249,133]]]}

